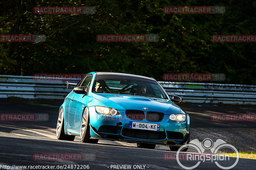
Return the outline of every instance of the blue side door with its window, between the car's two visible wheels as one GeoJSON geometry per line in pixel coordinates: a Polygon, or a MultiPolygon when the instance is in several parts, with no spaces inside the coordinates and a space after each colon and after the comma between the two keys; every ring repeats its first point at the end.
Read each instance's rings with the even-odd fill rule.
{"type": "MultiPolygon", "coordinates": [[[[81,83],[78,83],[76,87],[89,87],[92,81],[92,74],[88,74],[84,77],[81,83]]],[[[88,89],[87,89],[88,90],[88,89]]],[[[83,102],[87,98],[87,95],[76,94],[71,97],[69,105],[69,126],[75,129],[80,129],[82,114],[84,110],[83,102]]]]}

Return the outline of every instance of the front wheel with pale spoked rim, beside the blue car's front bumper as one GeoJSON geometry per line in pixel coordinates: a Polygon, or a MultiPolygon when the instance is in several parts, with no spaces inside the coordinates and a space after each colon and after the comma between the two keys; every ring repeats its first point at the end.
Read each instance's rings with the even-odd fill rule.
{"type": "Polygon", "coordinates": [[[81,142],[84,143],[98,143],[99,139],[90,139],[90,125],[89,125],[89,110],[86,107],[84,109],[82,120],[81,120],[81,128],[80,128],[80,139],[81,142]]]}

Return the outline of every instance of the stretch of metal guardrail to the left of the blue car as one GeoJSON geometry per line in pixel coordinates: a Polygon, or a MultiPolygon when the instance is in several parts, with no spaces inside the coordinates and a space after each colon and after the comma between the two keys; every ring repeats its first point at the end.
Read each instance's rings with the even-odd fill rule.
{"type": "Polygon", "coordinates": [[[0,75],[0,98],[64,99],[71,90],[67,89],[66,81],[35,81],[33,76],[0,75]]]}

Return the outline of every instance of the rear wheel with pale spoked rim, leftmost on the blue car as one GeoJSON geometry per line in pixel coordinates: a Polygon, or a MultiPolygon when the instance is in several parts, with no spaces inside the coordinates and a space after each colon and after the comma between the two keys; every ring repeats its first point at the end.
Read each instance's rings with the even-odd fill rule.
{"type": "Polygon", "coordinates": [[[58,116],[58,121],[57,121],[56,136],[59,140],[73,141],[75,139],[75,136],[65,134],[63,121],[64,121],[64,111],[63,111],[63,108],[61,108],[58,116]]]}

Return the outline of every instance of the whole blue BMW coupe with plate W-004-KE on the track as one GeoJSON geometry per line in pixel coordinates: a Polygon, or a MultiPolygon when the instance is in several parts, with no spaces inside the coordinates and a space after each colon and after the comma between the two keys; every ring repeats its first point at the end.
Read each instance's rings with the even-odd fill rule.
{"type": "MultiPolygon", "coordinates": [[[[137,143],[172,151],[190,140],[189,116],[153,78],[112,72],[91,72],[77,84],[60,106],[56,128],[60,140],[97,143],[99,139],[137,143]]],[[[183,150],[184,151],[184,150],[183,150]]]]}

